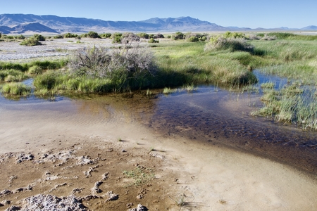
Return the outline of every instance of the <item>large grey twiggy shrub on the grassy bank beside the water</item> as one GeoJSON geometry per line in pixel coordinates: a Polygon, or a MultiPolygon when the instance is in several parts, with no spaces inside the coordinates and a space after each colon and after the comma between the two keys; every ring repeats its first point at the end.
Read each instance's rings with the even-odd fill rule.
{"type": "Polygon", "coordinates": [[[81,49],[69,63],[71,74],[77,77],[108,79],[113,89],[144,88],[155,72],[154,56],[149,49],[139,46],[135,37],[124,46],[111,51],[102,47],[81,49]]]}

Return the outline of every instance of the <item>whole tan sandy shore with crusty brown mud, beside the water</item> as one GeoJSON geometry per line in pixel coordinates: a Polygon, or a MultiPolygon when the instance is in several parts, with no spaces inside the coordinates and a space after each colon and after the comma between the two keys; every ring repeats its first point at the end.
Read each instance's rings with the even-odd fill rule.
{"type": "Polygon", "coordinates": [[[58,110],[56,104],[56,110],[4,106],[0,118],[0,210],[23,207],[24,198],[39,193],[74,195],[90,210],[138,204],[149,210],[317,210],[317,182],[302,172],[163,136],[128,117],[85,122],[85,114],[58,110]],[[123,171],[139,167],[154,177],[135,185],[123,171]],[[107,200],[109,191],[118,199],[107,200]],[[182,207],[174,200],[183,200],[182,207]]]}

